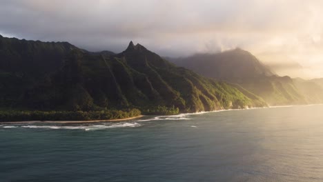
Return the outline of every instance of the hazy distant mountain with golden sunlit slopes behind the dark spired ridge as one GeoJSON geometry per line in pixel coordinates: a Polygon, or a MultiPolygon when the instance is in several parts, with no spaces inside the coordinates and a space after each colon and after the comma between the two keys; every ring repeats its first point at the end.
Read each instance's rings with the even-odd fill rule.
{"type": "Polygon", "coordinates": [[[239,84],[270,105],[307,103],[290,77],[277,76],[253,54],[239,48],[218,54],[196,54],[172,61],[206,77],[239,84]]]}

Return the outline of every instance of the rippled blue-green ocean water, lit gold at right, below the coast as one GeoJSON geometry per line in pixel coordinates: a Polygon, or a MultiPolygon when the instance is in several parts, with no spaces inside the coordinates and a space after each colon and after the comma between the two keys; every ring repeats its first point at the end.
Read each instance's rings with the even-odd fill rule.
{"type": "Polygon", "coordinates": [[[2,124],[0,181],[323,181],[323,105],[2,124]]]}

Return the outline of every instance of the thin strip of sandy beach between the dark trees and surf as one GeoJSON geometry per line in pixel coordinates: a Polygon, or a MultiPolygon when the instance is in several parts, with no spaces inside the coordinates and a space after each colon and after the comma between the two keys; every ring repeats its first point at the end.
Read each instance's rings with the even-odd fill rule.
{"type": "Polygon", "coordinates": [[[3,121],[0,124],[19,124],[19,123],[104,123],[104,122],[117,122],[117,121],[128,121],[132,119],[139,119],[144,117],[144,115],[139,115],[137,117],[128,117],[124,119],[103,119],[103,120],[86,120],[86,121],[3,121]]]}

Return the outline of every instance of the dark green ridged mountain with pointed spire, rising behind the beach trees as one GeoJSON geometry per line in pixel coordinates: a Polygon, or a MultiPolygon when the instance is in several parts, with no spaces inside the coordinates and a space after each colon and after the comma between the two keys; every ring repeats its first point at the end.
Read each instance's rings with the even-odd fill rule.
{"type": "Polygon", "coordinates": [[[124,52],[88,52],[67,42],[0,37],[0,108],[197,112],[266,105],[130,42],[124,52]]]}

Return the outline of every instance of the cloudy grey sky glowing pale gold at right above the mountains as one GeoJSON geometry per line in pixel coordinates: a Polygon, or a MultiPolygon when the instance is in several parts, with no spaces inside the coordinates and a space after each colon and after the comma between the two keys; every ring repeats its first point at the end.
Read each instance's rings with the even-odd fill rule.
{"type": "Polygon", "coordinates": [[[164,57],[239,47],[311,78],[323,77],[322,10],[322,0],[0,0],[0,34],[90,51],[132,40],[164,57]]]}

